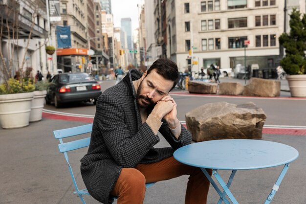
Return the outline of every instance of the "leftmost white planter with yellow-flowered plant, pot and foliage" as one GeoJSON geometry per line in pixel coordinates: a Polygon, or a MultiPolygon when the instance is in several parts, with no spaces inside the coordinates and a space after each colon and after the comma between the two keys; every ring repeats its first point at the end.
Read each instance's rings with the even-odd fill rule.
{"type": "Polygon", "coordinates": [[[29,125],[35,87],[30,78],[16,76],[0,85],[0,124],[5,129],[29,125]]]}

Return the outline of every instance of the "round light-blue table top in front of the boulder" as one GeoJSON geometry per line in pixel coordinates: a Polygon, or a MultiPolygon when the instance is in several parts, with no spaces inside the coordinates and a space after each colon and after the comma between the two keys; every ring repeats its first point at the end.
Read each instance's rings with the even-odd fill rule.
{"type": "Polygon", "coordinates": [[[255,139],[221,139],[189,144],[177,149],[181,163],[209,169],[246,170],[290,163],[299,152],[288,145],[255,139]]]}

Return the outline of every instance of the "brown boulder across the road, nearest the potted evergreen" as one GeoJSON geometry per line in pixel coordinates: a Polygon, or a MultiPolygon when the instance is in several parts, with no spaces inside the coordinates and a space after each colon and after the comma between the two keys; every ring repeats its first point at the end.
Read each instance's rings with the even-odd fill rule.
{"type": "Polygon", "coordinates": [[[251,78],[242,95],[275,97],[280,96],[281,82],[278,80],[251,78]]]}

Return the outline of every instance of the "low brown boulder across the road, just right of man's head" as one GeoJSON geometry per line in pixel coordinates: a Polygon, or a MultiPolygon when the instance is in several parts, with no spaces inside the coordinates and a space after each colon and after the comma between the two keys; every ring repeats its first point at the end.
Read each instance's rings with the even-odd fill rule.
{"type": "Polygon", "coordinates": [[[190,93],[217,93],[217,84],[205,83],[201,81],[189,81],[188,91],[190,93]]]}

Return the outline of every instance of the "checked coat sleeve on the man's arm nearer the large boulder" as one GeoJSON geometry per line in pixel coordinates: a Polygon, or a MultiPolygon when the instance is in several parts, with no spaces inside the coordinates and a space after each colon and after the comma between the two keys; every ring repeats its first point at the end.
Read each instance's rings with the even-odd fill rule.
{"type": "Polygon", "coordinates": [[[178,139],[175,138],[175,136],[172,134],[171,130],[169,129],[168,124],[165,121],[162,121],[163,124],[159,129],[160,134],[165,137],[165,139],[168,141],[168,143],[171,145],[173,149],[178,149],[182,146],[185,146],[187,144],[191,143],[191,133],[186,130],[184,126],[182,126],[181,134],[178,137],[178,139]]]}

